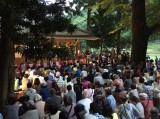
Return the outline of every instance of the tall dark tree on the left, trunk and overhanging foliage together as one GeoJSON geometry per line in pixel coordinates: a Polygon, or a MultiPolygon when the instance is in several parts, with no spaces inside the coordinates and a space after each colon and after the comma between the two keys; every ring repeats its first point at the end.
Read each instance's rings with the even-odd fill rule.
{"type": "MultiPolygon", "coordinates": [[[[1,0],[0,39],[0,112],[13,95],[14,38],[17,33],[29,32],[28,40],[37,40],[55,31],[73,31],[74,26],[65,17],[65,0],[47,5],[44,0],[1,0]]],[[[37,40],[37,44],[41,44],[37,40]]]]}

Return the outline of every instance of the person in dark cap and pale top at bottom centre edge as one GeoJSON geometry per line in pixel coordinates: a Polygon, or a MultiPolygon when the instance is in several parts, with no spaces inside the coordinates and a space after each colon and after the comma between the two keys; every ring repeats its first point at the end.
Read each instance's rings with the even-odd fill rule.
{"type": "Polygon", "coordinates": [[[74,112],[77,119],[97,119],[96,116],[87,113],[87,111],[85,110],[85,106],[83,104],[77,104],[74,107],[74,112]]]}

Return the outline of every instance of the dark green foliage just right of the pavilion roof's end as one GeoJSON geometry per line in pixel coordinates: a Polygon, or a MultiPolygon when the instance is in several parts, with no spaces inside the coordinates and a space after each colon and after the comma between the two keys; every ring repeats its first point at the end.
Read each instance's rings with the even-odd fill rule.
{"type": "Polygon", "coordinates": [[[115,34],[109,34],[110,29],[114,29],[115,27],[115,16],[113,14],[103,16],[105,10],[104,9],[98,9],[96,12],[92,13],[91,16],[91,30],[92,32],[97,36],[100,37],[101,40],[90,41],[90,47],[101,47],[101,44],[103,45],[103,48],[105,47],[112,47],[113,42],[115,39],[115,34]]]}

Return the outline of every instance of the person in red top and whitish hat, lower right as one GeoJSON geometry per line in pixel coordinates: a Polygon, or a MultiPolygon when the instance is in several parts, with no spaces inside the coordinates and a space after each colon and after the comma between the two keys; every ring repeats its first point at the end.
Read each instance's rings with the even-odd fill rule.
{"type": "Polygon", "coordinates": [[[145,119],[150,119],[150,116],[151,116],[150,109],[153,107],[152,100],[148,99],[148,95],[146,93],[140,93],[139,99],[144,108],[145,119]]]}

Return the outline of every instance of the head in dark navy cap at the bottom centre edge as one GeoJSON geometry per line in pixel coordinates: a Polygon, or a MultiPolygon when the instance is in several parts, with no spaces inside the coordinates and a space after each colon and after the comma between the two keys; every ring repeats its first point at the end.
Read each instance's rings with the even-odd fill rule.
{"type": "Polygon", "coordinates": [[[84,115],[87,113],[85,110],[85,106],[82,104],[77,104],[74,107],[74,112],[75,112],[77,119],[84,119],[84,115]]]}

